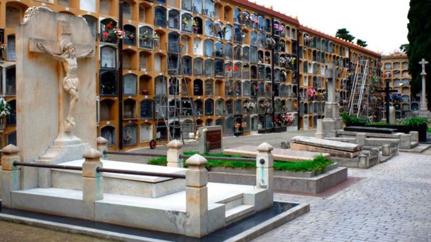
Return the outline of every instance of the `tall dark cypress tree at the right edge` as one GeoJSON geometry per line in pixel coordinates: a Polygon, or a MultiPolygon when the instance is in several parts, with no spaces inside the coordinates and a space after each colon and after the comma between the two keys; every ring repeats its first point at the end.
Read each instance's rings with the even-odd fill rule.
{"type": "MultiPolygon", "coordinates": [[[[409,46],[406,48],[407,55],[409,56],[409,73],[412,76],[411,90],[412,93],[418,93],[422,89],[422,66],[419,61],[422,58],[431,62],[431,1],[423,0],[410,0],[410,9],[407,17],[409,18],[409,46]]],[[[427,75],[427,83],[430,83],[431,65],[425,67],[427,75]]],[[[431,83],[426,86],[426,93],[428,96],[428,109],[430,108],[430,95],[431,83]]]]}

